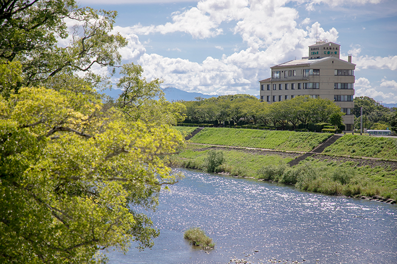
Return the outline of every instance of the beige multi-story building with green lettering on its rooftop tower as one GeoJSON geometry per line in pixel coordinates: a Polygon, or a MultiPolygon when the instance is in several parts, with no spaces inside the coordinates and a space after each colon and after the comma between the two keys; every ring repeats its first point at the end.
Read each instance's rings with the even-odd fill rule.
{"type": "Polygon", "coordinates": [[[345,112],[345,130],[354,124],[354,69],[351,55],[348,61],[339,59],[340,45],[319,41],[309,46],[309,56],[287,61],[271,69],[271,77],[260,81],[260,97],[269,104],[299,95],[328,98],[345,112]]]}

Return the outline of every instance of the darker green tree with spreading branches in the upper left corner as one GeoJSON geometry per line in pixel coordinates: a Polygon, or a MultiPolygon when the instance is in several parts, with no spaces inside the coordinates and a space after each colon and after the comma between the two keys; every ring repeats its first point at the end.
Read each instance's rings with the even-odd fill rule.
{"type": "Polygon", "coordinates": [[[92,67],[116,66],[121,60],[117,50],[127,44],[119,34],[109,33],[116,15],[79,8],[74,0],[1,1],[0,62],[21,62],[21,85],[43,84],[57,74],[76,71],[98,84],[105,76],[94,74],[92,67]]]}

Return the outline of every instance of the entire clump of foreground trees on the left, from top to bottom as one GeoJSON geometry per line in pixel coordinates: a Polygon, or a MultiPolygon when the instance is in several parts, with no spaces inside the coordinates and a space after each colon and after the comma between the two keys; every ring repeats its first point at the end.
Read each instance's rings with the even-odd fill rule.
{"type": "Polygon", "coordinates": [[[2,264],[102,263],[101,250],[150,247],[158,236],[138,211],[154,210],[161,186],[178,178],[164,157],[183,141],[172,125],[185,106],[133,64],[120,67],[117,100],[97,92],[127,44],[109,33],[115,17],[73,0],[1,3],[2,264]]]}

